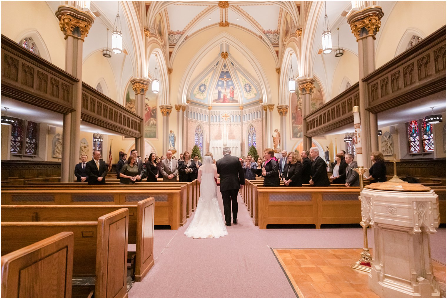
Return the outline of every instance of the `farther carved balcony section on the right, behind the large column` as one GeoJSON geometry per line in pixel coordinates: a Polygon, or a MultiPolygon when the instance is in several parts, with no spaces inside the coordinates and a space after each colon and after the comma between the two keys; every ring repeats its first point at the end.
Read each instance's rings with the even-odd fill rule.
{"type": "Polygon", "coordinates": [[[304,117],[308,136],[323,135],[346,124],[354,124],[352,107],[358,106],[358,82],[304,117]]]}

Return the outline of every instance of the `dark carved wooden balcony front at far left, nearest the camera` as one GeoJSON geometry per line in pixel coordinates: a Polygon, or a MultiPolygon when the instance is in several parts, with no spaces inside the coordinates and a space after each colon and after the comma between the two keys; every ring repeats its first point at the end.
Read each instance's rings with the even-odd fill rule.
{"type": "Polygon", "coordinates": [[[1,36],[1,95],[59,113],[74,111],[79,80],[1,36]]]}

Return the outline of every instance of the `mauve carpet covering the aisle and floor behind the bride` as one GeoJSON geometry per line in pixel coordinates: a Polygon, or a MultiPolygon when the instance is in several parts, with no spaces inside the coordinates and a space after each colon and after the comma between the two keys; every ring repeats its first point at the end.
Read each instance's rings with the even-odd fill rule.
{"type": "MultiPolygon", "coordinates": [[[[223,211],[220,192],[218,197],[223,211]]],[[[155,265],[142,282],[134,283],[129,297],[294,298],[270,248],[362,247],[360,227],[259,230],[240,196],[238,200],[239,223],[227,227],[228,235],[223,238],[187,238],[183,233],[190,219],[177,231],[156,230],[155,265]]],[[[368,239],[372,244],[372,233],[368,239]]],[[[445,263],[445,244],[445,229],[440,229],[432,237],[432,258],[445,263]]]]}

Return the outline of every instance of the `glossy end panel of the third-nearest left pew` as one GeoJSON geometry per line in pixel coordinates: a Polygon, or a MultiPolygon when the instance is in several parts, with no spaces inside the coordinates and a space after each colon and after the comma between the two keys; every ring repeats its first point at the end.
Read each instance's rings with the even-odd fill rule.
{"type": "Polygon", "coordinates": [[[154,265],[154,215],[155,199],[147,198],[138,202],[137,252],[135,281],[140,282],[154,265]]]}

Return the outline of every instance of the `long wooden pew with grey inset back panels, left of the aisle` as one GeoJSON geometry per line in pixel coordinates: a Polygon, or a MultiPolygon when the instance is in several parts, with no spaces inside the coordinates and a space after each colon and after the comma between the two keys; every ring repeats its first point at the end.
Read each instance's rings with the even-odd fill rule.
{"type": "Polygon", "coordinates": [[[169,225],[172,230],[186,223],[186,186],[178,188],[73,188],[1,191],[2,205],[136,205],[154,197],[154,225],[169,225]],[[183,211],[183,212],[182,212],[183,211]]]}

